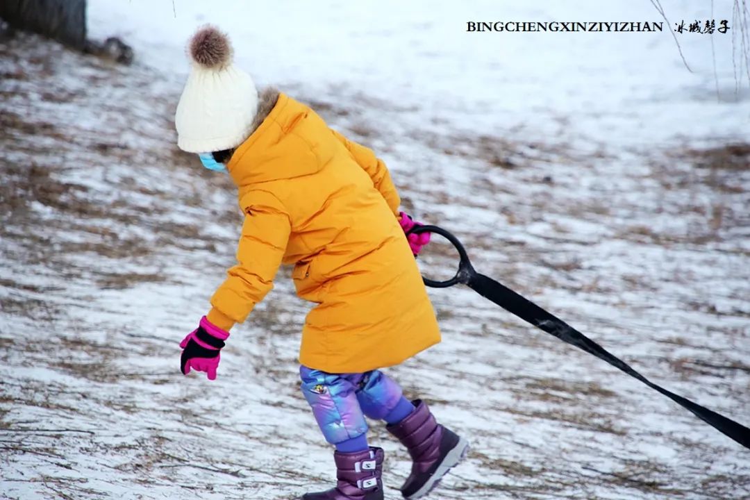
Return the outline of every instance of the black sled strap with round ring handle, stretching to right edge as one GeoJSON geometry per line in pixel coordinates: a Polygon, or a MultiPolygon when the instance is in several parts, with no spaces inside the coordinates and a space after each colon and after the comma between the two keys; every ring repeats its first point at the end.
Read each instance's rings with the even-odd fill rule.
{"type": "Polygon", "coordinates": [[[458,238],[450,232],[438,226],[421,226],[415,228],[413,232],[436,232],[443,235],[454,244],[460,255],[461,260],[458,273],[452,278],[452,280],[441,282],[425,278],[425,283],[428,286],[445,288],[446,286],[452,286],[456,283],[466,284],[474,289],[479,295],[493,301],[495,304],[499,305],[499,307],[508,311],[508,313],[513,313],[520,319],[531,323],[536,328],[546,331],[547,334],[553,335],[559,340],[562,340],[571,346],[576,346],[578,349],[582,349],[591,355],[595,355],[597,358],[607,361],[607,363],[611,364],[613,367],[619,368],[619,370],[622,370],[634,379],[640,380],[640,382],[648,385],[649,388],[664,394],[664,396],[673,400],[678,405],[690,410],[690,412],[692,412],[697,418],[700,418],[700,420],[706,422],[706,424],[709,424],[719,432],[734,439],[745,448],[750,449],[750,429],[747,427],[738,424],[730,418],[724,417],[724,415],[712,412],[705,406],[700,406],[691,400],[674,394],[671,391],[667,391],[660,385],[654,384],[649,381],[649,379],[646,379],[646,377],[640,375],[640,373],[637,373],[637,371],[625,363],[625,361],[610,354],[606,349],[599,346],[598,343],[595,343],[593,340],[589,339],[589,337],[586,337],[580,333],[580,331],[577,331],[575,328],[571,327],[571,325],[562,321],[562,319],[548,313],[546,310],[534,304],[532,301],[523,298],[523,296],[509,289],[507,286],[496,282],[492,278],[484,276],[484,274],[478,274],[474,271],[474,268],[472,268],[469,258],[466,255],[466,250],[463,249],[463,245],[461,245],[458,238]]]}

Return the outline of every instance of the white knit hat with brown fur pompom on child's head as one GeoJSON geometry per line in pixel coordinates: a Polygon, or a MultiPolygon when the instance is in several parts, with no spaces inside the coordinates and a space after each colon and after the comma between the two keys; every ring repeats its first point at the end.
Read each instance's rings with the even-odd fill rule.
{"type": "Polygon", "coordinates": [[[257,113],[253,79],[233,64],[229,38],[214,26],[196,31],[188,52],[190,75],[175,113],[177,145],[190,153],[236,148],[257,113]]]}

